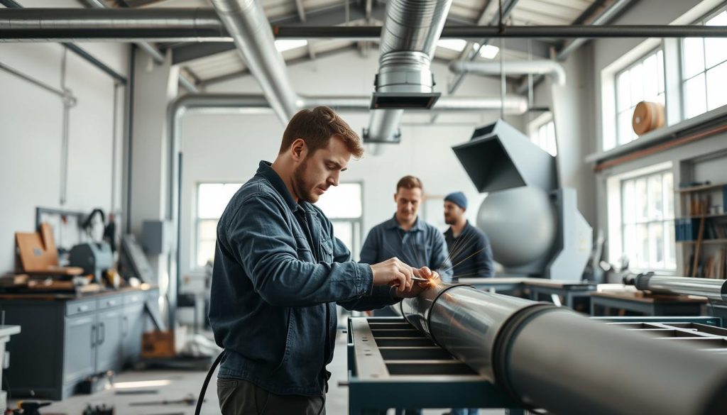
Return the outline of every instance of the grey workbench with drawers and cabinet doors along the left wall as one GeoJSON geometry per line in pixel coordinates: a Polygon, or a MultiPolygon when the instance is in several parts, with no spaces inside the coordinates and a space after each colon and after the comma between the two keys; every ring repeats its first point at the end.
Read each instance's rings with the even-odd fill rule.
{"type": "Polygon", "coordinates": [[[134,363],[142,332],[152,328],[145,304],[158,307],[158,297],[156,287],[0,295],[5,322],[22,328],[8,343],[11,395],[65,399],[87,376],[134,363]]]}

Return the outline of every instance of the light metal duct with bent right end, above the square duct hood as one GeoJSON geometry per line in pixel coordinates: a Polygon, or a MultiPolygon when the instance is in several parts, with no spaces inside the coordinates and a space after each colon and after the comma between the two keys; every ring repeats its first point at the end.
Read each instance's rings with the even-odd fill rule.
{"type": "Polygon", "coordinates": [[[554,84],[566,84],[566,70],[555,60],[506,60],[502,65],[498,62],[455,60],[449,63],[449,70],[477,75],[499,75],[502,72],[508,75],[549,75],[554,84]]]}

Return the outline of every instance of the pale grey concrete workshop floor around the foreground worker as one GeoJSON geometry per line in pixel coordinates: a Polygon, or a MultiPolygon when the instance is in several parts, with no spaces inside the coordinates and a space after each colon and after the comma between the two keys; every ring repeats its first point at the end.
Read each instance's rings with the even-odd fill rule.
{"type": "MultiPolygon", "coordinates": [[[[339,331],[340,333],[340,331],[339,331]]],[[[336,351],[334,360],[329,365],[329,371],[332,372],[330,381],[330,390],[327,398],[326,412],[329,415],[345,415],[348,414],[348,390],[345,386],[339,386],[339,382],[345,381],[347,377],[346,364],[346,337],[340,334],[336,342],[336,351]]],[[[158,406],[131,406],[133,402],[144,402],[150,400],[176,400],[184,398],[186,395],[196,395],[199,392],[202,382],[204,381],[204,372],[187,372],[187,371],[124,371],[116,374],[114,382],[116,384],[124,384],[137,389],[156,389],[158,393],[154,395],[116,395],[116,390],[104,390],[93,395],[76,395],[73,398],[53,403],[51,406],[41,408],[41,414],[68,414],[81,415],[84,408],[88,405],[106,404],[116,408],[116,415],[193,415],[194,406],[184,405],[158,405],[158,406]],[[161,386],[139,387],[143,383],[134,382],[156,382],[167,383],[161,386]]],[[[206,402],[202,407],[202,414],[212,415],[220,414],[217,401],[217,394],[214,387],[214,377],[211,387],[207,391],[206,402]]],[[[15,408],[15,403],[9,403],[10,408],[15,408]]],[[[443,409],[427,409],[425,415],[439,415],[446,410],[443,409]]],[[[389,411],[393,414],[393,410],[389,411]]],[[[505,411],[489,410],[480,411],[482,415],[500,415],[505,411]]],[[[274,414],[278,415],[278,414],[274,414]]],[[[283,415],[283,414],[281,414],[283,415]]]]}

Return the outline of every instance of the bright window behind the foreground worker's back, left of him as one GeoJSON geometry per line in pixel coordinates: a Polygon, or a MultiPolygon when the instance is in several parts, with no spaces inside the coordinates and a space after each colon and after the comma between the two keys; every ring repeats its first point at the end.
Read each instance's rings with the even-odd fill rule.
{"type": "Polygon", "coordinates": [[[241,183],[200,183],[197,186],[196,264],[214,259],[217,221],[241,183]]]}

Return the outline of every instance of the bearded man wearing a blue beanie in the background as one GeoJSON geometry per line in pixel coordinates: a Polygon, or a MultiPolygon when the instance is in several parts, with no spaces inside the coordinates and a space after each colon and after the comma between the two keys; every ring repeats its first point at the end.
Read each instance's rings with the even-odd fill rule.
{"type": "Polygon", "coordinates": [[[489,278],[494,275],[490,241],[481,230],[470,225],[465,211],[465,193],[449,193],[444,198],[444,222],[449,225],[444,240],[454,265],[454,278],[489,278]]]}

